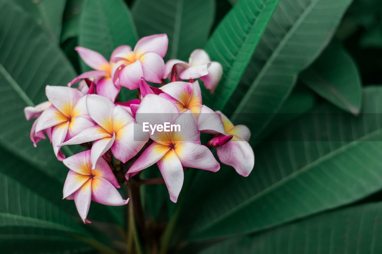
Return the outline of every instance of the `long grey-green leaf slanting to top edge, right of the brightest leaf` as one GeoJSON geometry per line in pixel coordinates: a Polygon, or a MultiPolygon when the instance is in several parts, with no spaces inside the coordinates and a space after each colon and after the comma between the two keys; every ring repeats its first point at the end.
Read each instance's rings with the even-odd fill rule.
{"type": "Polygon", "coordinates": [[[252,122],[233,114],[236,124],[249,125],[257,137],[296,83],[327,45],[351,0],[280,0],[243,80],[225,107],[227,112],[266,113],[252,122]]]}

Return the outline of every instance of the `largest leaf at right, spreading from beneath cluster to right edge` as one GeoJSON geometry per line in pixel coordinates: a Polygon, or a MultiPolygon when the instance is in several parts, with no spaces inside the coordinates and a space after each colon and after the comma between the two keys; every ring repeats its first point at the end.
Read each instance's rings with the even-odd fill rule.
{"type": "Polygon", "coordinates": [[[286,125],[257,146],[247,178],[230,167],[200,172],[189,197],[197,211],[185,207],[180,223],[193,239],[249,233],[380,190],[381,96],[381,87],[367,87],[359,117],[324,103],[286,125]]]}

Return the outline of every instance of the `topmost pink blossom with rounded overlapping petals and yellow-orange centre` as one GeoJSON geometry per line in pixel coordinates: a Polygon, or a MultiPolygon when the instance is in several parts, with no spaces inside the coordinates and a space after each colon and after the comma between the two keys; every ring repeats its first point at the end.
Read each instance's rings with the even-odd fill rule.
{"type": "Polygon", "coordinates": [[[168,37],[156,34],[140,39],[134,51],[115,54],[113,61],[118,61],[113,68],[113,80],[131,90],[139,87],[143,78],[153,83],[161,83],[165,69],[163,57],[166,55],[168,37]]]}

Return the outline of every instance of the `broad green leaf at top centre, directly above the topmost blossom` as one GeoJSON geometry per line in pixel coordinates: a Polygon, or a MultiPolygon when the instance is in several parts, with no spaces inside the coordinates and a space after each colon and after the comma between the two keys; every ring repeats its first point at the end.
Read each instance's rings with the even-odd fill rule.
{"type": "Polygon", "coordinates": [[[140,37],[168,36],[165,59],[188,60],[204,47],[215,16],[214,0],[136,0],[133,16],[140,37]]]}

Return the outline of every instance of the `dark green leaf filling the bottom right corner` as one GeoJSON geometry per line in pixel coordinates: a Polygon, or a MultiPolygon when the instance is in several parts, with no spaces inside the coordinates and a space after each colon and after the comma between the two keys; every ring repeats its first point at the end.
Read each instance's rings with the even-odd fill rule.
{"type": "Polygon", "coordinates": [[[231,238],[200,254],[382,252],[382,203],[328,212],[260,235],[231,238]]]}

